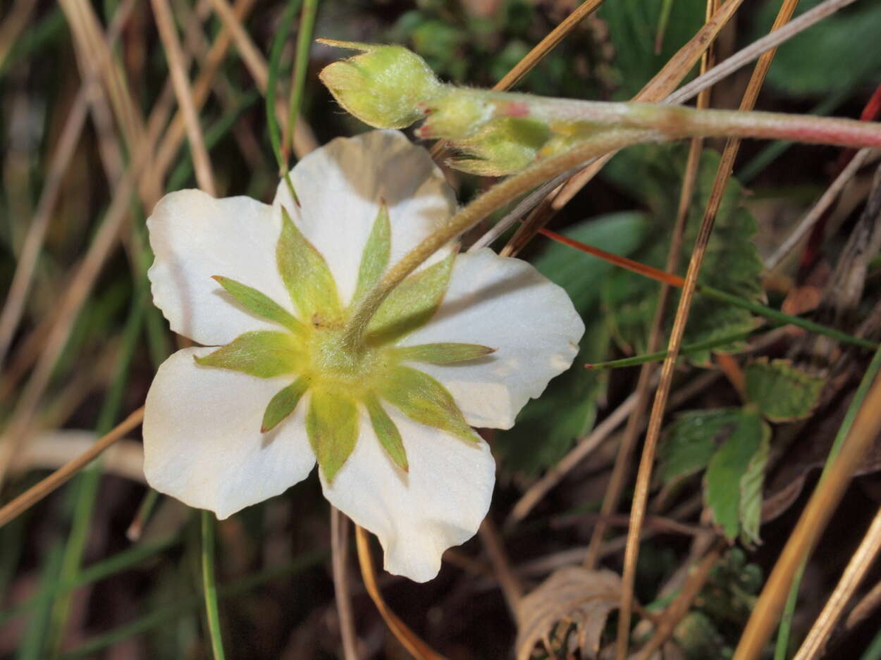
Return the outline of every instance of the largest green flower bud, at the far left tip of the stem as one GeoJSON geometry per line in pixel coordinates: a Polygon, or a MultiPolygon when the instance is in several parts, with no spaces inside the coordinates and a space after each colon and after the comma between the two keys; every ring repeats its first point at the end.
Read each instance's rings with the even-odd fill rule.
{"type": "Polygon", "coordinates": [[[337,103],[375,128],[405,128],[422,118],[419,104],[444,89],[426,61],[401,46],[319,39],[362,51],[324,67],[319,77],[337,103]]]}

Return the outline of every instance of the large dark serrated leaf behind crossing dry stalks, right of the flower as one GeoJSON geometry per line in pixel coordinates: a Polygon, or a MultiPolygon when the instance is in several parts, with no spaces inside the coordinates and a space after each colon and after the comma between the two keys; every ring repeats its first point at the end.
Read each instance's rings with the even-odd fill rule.
{"type": "MultiPolygon", "coordinates": [[[[649,145],[634,147],[612,158],[607,175],[621,187],[652,209],[656,231],[662,240],[654,240],[634,255],[636,260],[655,268],[664,268],[669,251],[670,229],[677,214],[679,192],[685,169],[687,147],[682,145],[649,145]],[[622,158],[623,157],[623,158],[622,158]]],[[[679,272],[685,272],[694,239],[700,228],[704,210],[713,188],[719,154],[704,150],[696,189],[689,215],[686,218],[685,237],[679,258],[679,272]]],[[[743,208],[743,187],[730,179],[722,194],[722,203],[716,214],[713,234],[700,270],[700,282],[750,302],[763,302],[761,287],[762,262],[752,244],[756,222],[743,208]]],[[[612,332],[627,352],[645,353],[650,326],[655,317],[660,284],[618,270],[603,281],[603,307],[612,332]]],[[[674,291],[667,305],[665,326],[670,327],[676,311],[679,293],[674,291]]],[[[713,298],[696,295],[685,327],[685,344],[712,341],[731,334],[749,332],[756,326],[751,312],[713,298]]],[[[720,346],[713,350],[735,351],[741,342],[720,346]]],[[[692,363],[707,364],[712,350],[692,353],[692,363]]]]}

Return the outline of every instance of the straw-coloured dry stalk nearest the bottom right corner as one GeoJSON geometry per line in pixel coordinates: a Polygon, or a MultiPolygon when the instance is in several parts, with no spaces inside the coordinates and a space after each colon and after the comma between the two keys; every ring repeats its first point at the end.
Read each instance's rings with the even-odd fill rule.
{"type": "Polygon", "coordinates": [[[826,601],[823,611],[820,612],[793,660],[815,660],[822,654],[841,613],[844,612],[856,588],[862,583],[879,550],[881,550],[881,509],[877,510],[875,517],[872,518],[869,531],[862,537],[860,546],[848,561],[848,567],[844,569],[839,583],[835,585],[835,590],[826,601]]]}

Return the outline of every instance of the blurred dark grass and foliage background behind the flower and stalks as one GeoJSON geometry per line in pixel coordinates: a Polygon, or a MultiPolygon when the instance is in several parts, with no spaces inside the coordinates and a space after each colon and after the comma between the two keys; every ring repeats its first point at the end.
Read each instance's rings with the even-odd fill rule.
{"type": "MultiPolygon", "coordinates": [[[[263,99],[270,49],[289,5],[237,0],[244,37],[218,50],[217,44],[228,40],[218,3],[226,4],[171,2],[191,81],[206,92],[199,120],[218,194],[269,201],[278,167],[263,99]]],[[[322,0],[314,34],[400,43],[425,57],[445,80],[489,87],[576,4],[322,0]]],[[[799,11],[814,4],[803,0],[799,11]]],[[[766,33],[778,8],[771,0],[745,2],[717,42],[717,59],[766,33]]],[[[704,16],[704,0],[606,0],[516,89],[574,99],[629,99],[703,25],[704,16]],[[658,41],[661,48],[655,48],[658,41]]],[[[280,41],[279,99],[287,98],[296,26],[297,21],[280,41]]],[[[859,117],[881,82],[879,33],[881,4],[870,0],[827,18],[780,48],[757,106],[859,117]]],[[[367,128],[336,106],[318,81],[322,66],[341,56],[318,44],[309,49],[302,126],[293,140],[298,154],[367,128]]],[[[747,69],[717,84],[712,105],[737,106],[748,77],[747,69]]],[[[166,53],[146,0],[4,0],[0,5],[0,290],[5,292],[0,423],[3,446],[13,448],[0,456],[3,502],[140,407],[157,366],[181,345],[152,306],[145,279],[152,260],[145,217],[161,194],[196,186],[180,122],[176,129],[167,123],[175,111],[166,53]],[[108,31],[116,32],[115,38],[108,40],[108,31]],[[110,73],[100,70],[104,53],[113,62],[110,73]],[[145,164],[144,154],[149,154],[145,164]],[[17,292],[13,278],[22,271],[32,271],[33,277],[17,292]]],[[[720,146],[707,143],[700,160],[680,273],[720,146]]],[[[663,268],[687,150],[680,144],[619,154],[555,216],[552,229],[663,268]]],[[[834,269],[862,222],[872,189],[870,167],[855,173],[823,231],[800,244],[782,268],[771,275],[762,270],[762,260],[824,193],[846,157],[830,147],[744,143],[702,281],[774,308],[815,313],[848,333],[877,314],[881,270],[876,260],[863,268],[865,292],[845,318],[823,316],[823,300],[834,297],[839,282],[834,269]]],[[[449,180],[461,202],[492,185],[461,172],[449,172],[449,180]]],[[[490,517],[502,530],[516,578],[531,590],[553,570],[581,562],[608,488],[620,431],[608,434],[568,470],[528,517],[503,523],[523,493],[633,392],[638,370],[583,365],[646,352],[658,285],[543,237],[522,256],[566,288],[588,327],[573,369],[523,410],[514,429],[485,434],[500,462],[490,517]]],[[[759,319],[732,310],[699,299],[685,343],[757,328],[759,319]]],[[[670,312],[668,328],[671,319],[670,312]]],[[[878,329],[870,327],[866,336],[877,340],[878,329]]],[[[662,611],[681,589],[684,568],[717,536],[728,537],[730,545],[679,620],[675,642],[659,651],[663,657],[730,656],[870,360],[864,351],[818,352],[791,330],[759,332],[725,348],[732,362],[722,363],[708,350],[681,360],[665,422],[637,574],[640,603],[648,612],[662,611]],[[789,362],[775,363],[777,358],[789,362]],[[746,378],[745,391],[738,392],[737,374],[746,378]],[[782,411],[774,407],[780,400],[782,411]],[[731,438],[743,442],[727,442],[731,438]],[[750,491],[750,510],[738,508],[736,500],[733,512],[725,513],[727,504],[716,498],[729,498],[732,488],[741,496],[747,463],[759,442],[766,458],[758,491],[750,491]],[[742,457],[739,464],[737,457],[718,458],[726,447],[743,443],[755,444],[746,463],[742,457]]],[[[638,458],[637,451],[630,473],[638,458]]],[[[211,656],[198,516],[149,492],[140,459],[136,430],[100,464],[0,528],[0,657],[211,656]]],[[[807,568],[790,649],[811,627],[877,510],[879,469],[877,456],[867,458],[807,568]]],[[[754,477],[754,465],[751,470],[754,477]]],[[[603,544],[603,565],[615,572],[622,566],[630,496],[626,489],[622,515],[607,519],[611,532],[603,544]]],[[[389,605],[451,660],[510,656],[516,622],[485,546],[472,539],[451,550],[447,560],[441,576],[424,585],[382,577],[389,605]]],[[[227,656],[343,657],[329,566],[328,505],[315,475],[219,524],[217,570],[227,656]]],[[[407,657],[355,573],[352,559],[359,656],[407,657]]],[[[855,598],[870,594],[879,576],[877,569],[871,572],[855,598]]],[[[881,657],[876,637],[881,616],[875,601],[866,602],[861,619],[836,629],[830,655],[881,657]]],[[[614,638],[614,621],[613,615],[603,646],[614,638]]],[[[646,616],[633,639],[644,641],[650,633],[646,616]]],[[[546,650],[535,655],[549,656],[546,650]]],[[[565,651],[558,656],[591,657],[565,651]]]]}

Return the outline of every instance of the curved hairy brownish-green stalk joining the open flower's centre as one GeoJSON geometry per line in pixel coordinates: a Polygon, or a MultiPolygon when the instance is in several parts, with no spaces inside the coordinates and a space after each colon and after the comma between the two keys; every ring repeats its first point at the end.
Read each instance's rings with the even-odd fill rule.
{"type": "Polygon", "coordinates": [[[544,181],[552,179],[560,172],[566,172],[576,165],[581,165],[590,158],[596,158],[609,151],[623,149],[630,144],[663,141],[663,139],[664,137],[655,131],[638,129],[605,131],[600,135],[591,136],[576,143],[570,150],[551,158],[539,160],[522,172],[493,186],[456,213],[455,216],[452,216],[444,226],[434,231],[431,236],[423,240],[409,253],[404,254],[401,260],[389,269],[379,284],[361,300],[349,319],[349,325],[344,334],[345,346],[353,351],[359,351],[363,345],[367,324],[379,309],[382,301],[389,296],[389,293],[433,253],[478,224],[492,211],[500,209],[507,202],[528,193],[529,190],[541,185],[544,181]]]}

